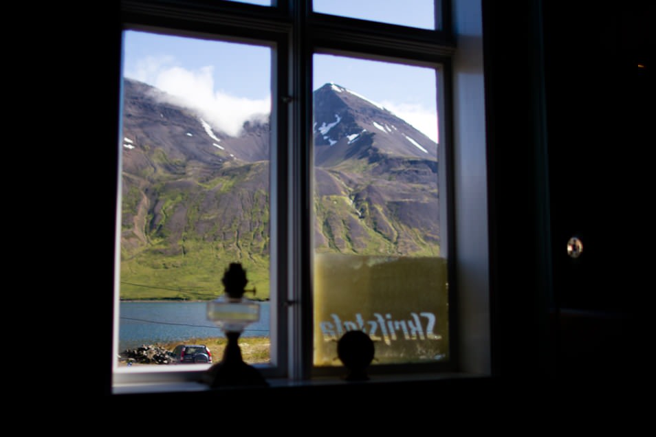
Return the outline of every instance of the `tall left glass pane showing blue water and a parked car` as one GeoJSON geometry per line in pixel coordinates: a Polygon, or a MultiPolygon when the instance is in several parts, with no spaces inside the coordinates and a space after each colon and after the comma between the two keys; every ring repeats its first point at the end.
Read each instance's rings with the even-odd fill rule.
{"type": "Polygon", "coordinates": [[[206,309],[232,262],[247,273],[245,297],[261,300],[244,359],[269,361],[271,56],[124,33],[119,368],[221,361],[226,337],[206,309]],[[209,351],[186,361],[184,348],[172,353],[182,345],[209,351]]]}

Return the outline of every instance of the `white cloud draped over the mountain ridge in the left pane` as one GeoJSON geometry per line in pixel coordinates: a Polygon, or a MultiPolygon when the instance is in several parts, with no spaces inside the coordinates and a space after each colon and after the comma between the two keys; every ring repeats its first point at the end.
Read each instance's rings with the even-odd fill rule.
{"type": "Polygon", "coordinates": [[[252,100],[215,91],[214,67],[190,71],[173,65],[173,58],[149,57],[126,76],[149,83],[174,96],[173,103],[198,109],[204,119],[228,135],[237,136],[246,120],[264,120],[271,111],[270,98],[252,100]]]}

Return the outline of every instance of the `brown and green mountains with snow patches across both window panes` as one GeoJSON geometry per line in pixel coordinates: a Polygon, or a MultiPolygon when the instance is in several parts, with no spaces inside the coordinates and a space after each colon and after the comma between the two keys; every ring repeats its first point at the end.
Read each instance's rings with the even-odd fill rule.
{"type": "MultiPolygon", "coordinates": [[[[437,144],[344,87],[314,101],[316,250],[439,254],[437,144]]],[[[268,122],[230,136],[129,79],[123,111],[122,298],[207,298],[230,262],[267,297],[268,122]]]]}

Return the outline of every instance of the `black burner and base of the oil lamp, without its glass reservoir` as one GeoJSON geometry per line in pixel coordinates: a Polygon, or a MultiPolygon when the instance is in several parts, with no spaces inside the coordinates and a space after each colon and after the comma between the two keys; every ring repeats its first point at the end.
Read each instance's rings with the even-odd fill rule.
{"type": "MultiPolygon", "coordinates": [[[[226,294],[230,300],[241,302],[244,287],[248,280],[246,272],[239,263],[231,263],[221,279],[226,287],[226,294]]],[[[228,344],[223,350],[223,358],[219,363],[210,367],[203,375],[202,381],[211,388],[239,387],[239,386],[267,386],[267,381],[256,368],[243,362],[239,348],[241,331],[226,331],[228,344]]]]}

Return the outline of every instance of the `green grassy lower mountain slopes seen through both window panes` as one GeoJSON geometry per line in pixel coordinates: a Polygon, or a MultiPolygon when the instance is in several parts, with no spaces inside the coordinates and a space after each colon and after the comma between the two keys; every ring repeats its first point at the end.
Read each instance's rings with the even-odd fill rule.
{"type": "MultiPolygon", "coordinates": [[[[364,160],[349,164],[342,165],[341,170],[351,175],[371,172],[364,160]]],[[[269,223],[269,199],[268,193],[252,188],[252,180],[266,165],[261,162],[229,167],[220,175],[195,182],[192,188],[187,185],[182,191],[179,186],[174,189],[167,185],[171,179],[160,181],[151,185],[151,190],[157,192],[158,208],[152,208],[146,194],[131,184],[123,197],[122,231],[131,244],[122,244],[121,298],[210,300],[223,293],[221,278],[230,262],[241,262],[247,271],[247,289],[256,290],[256,294],[249,297],[269,298],[267,247],[270,241],[265,234],[269,223]],[[235,192],[241,199],[238,204],[250,205],[250,209],[243,212],[248,216],[232,217],[232,223],[223,223],[221,208],[208,210],[204,207],[203,199],[208,193],[213,193],[215,199],[212,202],[217,205],[222,205],[221,199],[232,196],[226,200],[228,206],[223,206],[223,209],[230,208],[235,204],[235,192]],[[156,211],[156,219],[153,219],[152,211],[156,211]],[[175,224],[176,217],[181,214],[184,216],[182,227],[175,224]],[[255,224],[254,229],[244,232],[243,223],[255,224]],[[136,238],[138,234],[142,238],[136,238]],[[221,237],[226,235],[230,237],[221,237]]],[[[184,171],[180,173],[186,174],[184,171]]],[[[182,179],[171,177],[178,181],[188,180],[184,176],[182,179]]],[[[365,186],[380,182],[376,179],[360,181],[365,186]]],[[[342,182],[342,185],[346,187],[347,183],[342,182]]],[[[317,247],[317,251],[398,255],[402,234],[402,239],[413,245],[413,253],[406,255],[439,254],[439,246],[424,241],[418,229],[408,229],[382,212],[378,205],[354,205],[348,192],[342,194],[315,199],[317,220],[327,236],[327,246],[317,247]],[[376,208],[376,211],[368,208],[376,208]],[[354,225],[358,226],[358,232],[353,232],[354,225]]]]}

